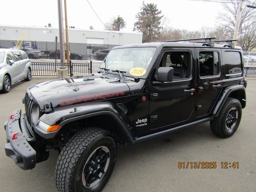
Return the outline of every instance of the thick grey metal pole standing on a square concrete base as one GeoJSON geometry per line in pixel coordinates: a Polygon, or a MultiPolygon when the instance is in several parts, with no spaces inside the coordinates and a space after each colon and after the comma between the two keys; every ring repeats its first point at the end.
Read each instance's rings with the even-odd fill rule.
{"type": "Polygon", "coordinates": [[[59,34],[60,34],[60,67],[58,68],[58,78],[68,77],[68,69],[64,66],[65,49],[64,49],[64,34],[63,34],[63,14],[62,0],[58,0],[58,16],[59,16],[59,34]]]}

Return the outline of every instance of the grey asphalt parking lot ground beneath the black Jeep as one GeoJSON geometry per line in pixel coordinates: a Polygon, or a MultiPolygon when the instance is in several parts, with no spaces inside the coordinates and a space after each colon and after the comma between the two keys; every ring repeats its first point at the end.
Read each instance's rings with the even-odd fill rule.
{"type": "MultiPolygon", "coordinates": [[[[26,88],[50,78],[32,77],[0,94],[0,191],[55,192],[54,168],[58,152],[24,171],[5,155],[4,122],[22,108],[26,88]]],[[[256,191],[256,79],[248,80],[247,106],[231,138],[218,138],[209,123],[133,146],[118,147],[118,160],[104,192],[255,192],[256,191]],[[239,168],[222,169],[221,162],[239,162],[239,168]],[[217,162],[216,169],[179,169],[178,162],[217,162]]]]}

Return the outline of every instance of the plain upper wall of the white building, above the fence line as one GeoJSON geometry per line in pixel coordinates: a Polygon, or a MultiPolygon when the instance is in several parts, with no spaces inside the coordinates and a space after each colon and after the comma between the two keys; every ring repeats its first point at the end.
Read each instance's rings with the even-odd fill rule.
{"type": "MultiPolygon", "coordinates": [[[[111,32],[104,30],[83,30],[69,28],[69,42],[86,44],[86,38],[102,38],[104,44],[126,45],[142,43],[142,33],[139,32],[111,32]]],[[[54,27],[22,27],[0,26],[0,40],[24,40],[54,42],[58,36],[58,28],[54,27]]]]}

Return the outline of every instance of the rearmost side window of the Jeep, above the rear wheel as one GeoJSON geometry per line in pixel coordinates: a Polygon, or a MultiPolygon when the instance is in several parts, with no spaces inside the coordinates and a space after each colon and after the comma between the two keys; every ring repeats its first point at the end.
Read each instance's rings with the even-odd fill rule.
{"type": "Polygon", "coordinates": [[[240,52],[225,51],[223,56],[225,74],[232,75],[242,72],[242,59],[240,52]]]}

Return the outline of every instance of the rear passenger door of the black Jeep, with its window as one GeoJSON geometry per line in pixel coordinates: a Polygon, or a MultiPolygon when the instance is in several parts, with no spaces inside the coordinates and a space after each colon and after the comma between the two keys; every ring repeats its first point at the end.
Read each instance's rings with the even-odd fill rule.
{"type": "Polygon", "coordinates": [[[197,55],[197,97],[196,116],[204,116],[211,112],[222,89],[220,73],[221,50],[196,48],[197,55]]]}

